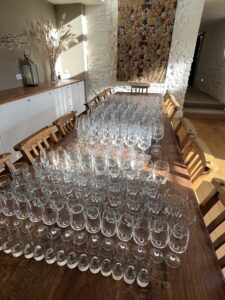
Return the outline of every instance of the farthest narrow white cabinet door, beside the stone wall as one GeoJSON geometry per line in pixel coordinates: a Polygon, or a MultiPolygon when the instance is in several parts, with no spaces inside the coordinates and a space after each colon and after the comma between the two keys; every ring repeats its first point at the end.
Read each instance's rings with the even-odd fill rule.
{"type": "Polygon", "coordinates": [[[85,111],[85,89],[84,82],[77,82],[71,85],[72,106],[77,115],[85,111]]]}

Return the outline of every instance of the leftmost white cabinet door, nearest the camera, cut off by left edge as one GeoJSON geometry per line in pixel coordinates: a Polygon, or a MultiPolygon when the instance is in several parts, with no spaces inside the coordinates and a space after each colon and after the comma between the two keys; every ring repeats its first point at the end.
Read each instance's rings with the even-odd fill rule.
{"type": "Polygon", "coordinates": [[[13,153],[13,160],[21,157],[13,147],[32,132],[28,103],[25,99],[0,105],[0,139],[4,152],[13,153]]]}

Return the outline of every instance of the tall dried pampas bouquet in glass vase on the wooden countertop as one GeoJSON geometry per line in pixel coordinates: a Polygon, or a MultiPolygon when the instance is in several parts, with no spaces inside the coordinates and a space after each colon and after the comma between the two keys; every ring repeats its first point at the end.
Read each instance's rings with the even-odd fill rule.
{"type": "Polygon", "coordinates": [[[54,28],[50,21],[45,19],[40,19],[32,24],[34,35],[41,42],[48,55],[51,82],[57,81],[55,64],[59,55],[69,46],[78,43],[76,34],[71,32],[71,25],[66,24],[65,20],[66,14],[63,14],[58,28],[54,28]]]}

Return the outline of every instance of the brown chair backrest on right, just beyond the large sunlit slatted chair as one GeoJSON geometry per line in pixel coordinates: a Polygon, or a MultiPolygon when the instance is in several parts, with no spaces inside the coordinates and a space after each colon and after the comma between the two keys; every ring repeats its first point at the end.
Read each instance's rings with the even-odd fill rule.
{"type": "Polygon", "coordinates": [[[188,143],[189,136],[196,137],[197,131],[192,123],[186,119],[179,119],[177,126],[174,129],[174,133],[179,144],[181,152],[185,145],[188,143]]]}

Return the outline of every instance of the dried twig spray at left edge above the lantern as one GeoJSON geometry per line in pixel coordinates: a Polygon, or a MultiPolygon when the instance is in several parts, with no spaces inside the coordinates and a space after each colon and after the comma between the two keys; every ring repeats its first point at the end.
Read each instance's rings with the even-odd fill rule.
{"type": "Polygon", "coordinates": [[[6,34],[0,36],[0,48],[12,50],[13,48],[20,48],[27,45],[29,45],[29,42],[25,34],[6,34]]]}

